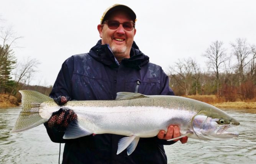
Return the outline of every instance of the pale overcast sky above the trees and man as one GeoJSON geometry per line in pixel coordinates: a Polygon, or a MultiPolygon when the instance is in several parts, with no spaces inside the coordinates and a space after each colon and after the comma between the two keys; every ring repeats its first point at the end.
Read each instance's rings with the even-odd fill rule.
{"type": "Polygon", "coordinates": [[[255,0],[2,0],[0,26],[23,36],[17,41],[23,48],[15,49],[18,60],[41,62],[31,84],[53,85],[68,57],[97,43],[102,13],[115,3],[135,11],[135,42],[165,72],[188,57],[205,67],[202,54],[216,40],[227,49],[236,38],[256,44],[255,0]]]}

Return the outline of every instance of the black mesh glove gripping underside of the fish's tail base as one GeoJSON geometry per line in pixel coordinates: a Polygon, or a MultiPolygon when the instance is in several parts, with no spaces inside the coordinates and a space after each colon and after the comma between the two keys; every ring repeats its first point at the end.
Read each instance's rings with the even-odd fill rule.
{"type": "Polygon", "coordinates": [[[65,131],[71,121],[77,119],[73,110],[60,108],[53,112],[47,122],[49,128],[56,128],[58,131],[65,131]]]}

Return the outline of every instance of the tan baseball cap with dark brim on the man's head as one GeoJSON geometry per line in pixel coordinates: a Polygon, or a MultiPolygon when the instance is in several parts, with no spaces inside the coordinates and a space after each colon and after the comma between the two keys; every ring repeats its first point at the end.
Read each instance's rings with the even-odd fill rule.
{"type": "Polygon", "coordinates": [[[124,11],[126,11],[131,16],[131,19],[133,20],[133,22],[136,21],[136,14],[133,10],[131,10],[130,7],[125,6],[125,5],[121,5],[121,4],[115,4],[113,6],[108,7],[104,11],[102,17],[100,18],[100,24],[103,24],[105,19],[107,18],[107,16],[115,10],[124,10],[124,11]]]}

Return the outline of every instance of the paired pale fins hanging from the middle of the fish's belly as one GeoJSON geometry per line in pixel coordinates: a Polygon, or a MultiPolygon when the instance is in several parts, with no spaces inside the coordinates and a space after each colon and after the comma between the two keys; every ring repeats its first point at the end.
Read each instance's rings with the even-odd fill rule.
{"type": "Polygon", "coordinates": [[[117,154],[121,153],[127,148],[127,154],[130,155],[135,150],[138,142],[139,142],[139,137],[135,135],[121,138],[118,141],[117,154]]]}

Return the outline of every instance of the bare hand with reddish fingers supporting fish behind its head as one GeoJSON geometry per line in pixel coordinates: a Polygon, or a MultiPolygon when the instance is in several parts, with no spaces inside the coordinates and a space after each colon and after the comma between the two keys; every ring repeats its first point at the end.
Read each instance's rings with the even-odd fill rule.
{"type": "MultiPolygon", "coordinates": [[[[172,139],[172,138],[176,138],[176,137],[181,136],[179,127],[176,126],[176,125],[175,126],[170,125],[168,127],[168,130],[167,130],[166,134],[164,134],[164,133],[165,133],[164,130],[159,131],[158,138],[168,140],[168,139],[172,139]]],[[[186,137],[182,137],[180,139],[175,139],[173,141],[179,141],[180,140],[181,143],[184,144],[184,143],[187,143],[187,139],[188,139],[188,137],[186,136],[186,137]]]]}

